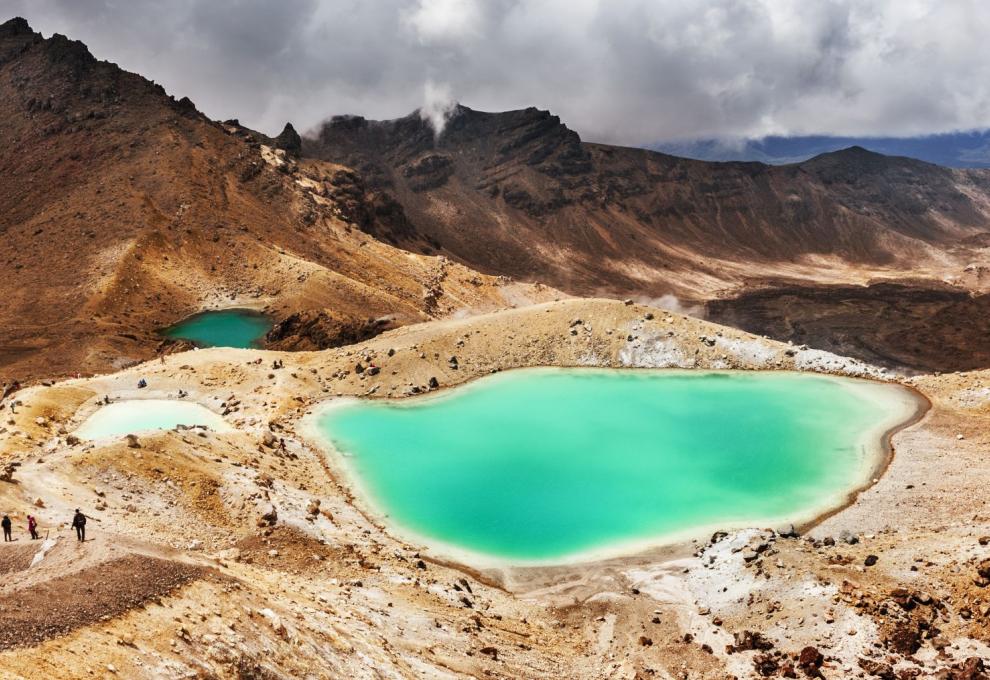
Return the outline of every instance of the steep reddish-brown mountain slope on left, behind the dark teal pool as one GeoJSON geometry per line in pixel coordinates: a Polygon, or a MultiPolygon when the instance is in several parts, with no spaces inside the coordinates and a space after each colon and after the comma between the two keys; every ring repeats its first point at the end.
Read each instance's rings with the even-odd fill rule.
{"type": "Polygon", "coordinates": [[[204,307],[401,324],[526,299],[353,228],[403,216],[352,171],[296,161],[22,19],[0,25],[0,120],[2,381],[147,358],[156,329],[204,307]]]}

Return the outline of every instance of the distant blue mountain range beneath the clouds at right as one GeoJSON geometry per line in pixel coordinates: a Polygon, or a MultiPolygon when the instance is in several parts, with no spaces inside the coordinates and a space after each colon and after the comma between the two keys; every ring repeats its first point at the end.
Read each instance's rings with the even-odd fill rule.
{"type": "Polygon", "coordinates": [[[990,168],[990,129],[925,137],[766,137],[743,141],[702,139],[658,142],[648,148],[702,161],[800,163],[831,151],[861,146],[888,156],[907,156],[950,168],[990,168]]]}

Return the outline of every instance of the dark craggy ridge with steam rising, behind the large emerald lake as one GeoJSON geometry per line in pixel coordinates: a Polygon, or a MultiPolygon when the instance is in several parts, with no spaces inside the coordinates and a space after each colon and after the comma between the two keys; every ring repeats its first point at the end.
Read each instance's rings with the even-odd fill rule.
{"type": "Polygon", "coordinates": [[[395,194],[417,241],[576,294],[708,298],[754,277],[962,276],[990,245],[990,172],[860,148],[807,162],[707,163],[582,143],[546,111],[458,106],[335,117],[303,154],[395,194]]]}

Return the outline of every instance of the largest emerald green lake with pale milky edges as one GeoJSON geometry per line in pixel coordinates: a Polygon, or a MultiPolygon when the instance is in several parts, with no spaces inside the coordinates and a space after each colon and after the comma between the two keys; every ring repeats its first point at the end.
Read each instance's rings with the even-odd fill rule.
{"type": "Polygon", "coordinates": [[[314,418],[400,534],[553,562],[840,505],[882,460],[907,390],[797,373],[527,369],[314,418]]]}

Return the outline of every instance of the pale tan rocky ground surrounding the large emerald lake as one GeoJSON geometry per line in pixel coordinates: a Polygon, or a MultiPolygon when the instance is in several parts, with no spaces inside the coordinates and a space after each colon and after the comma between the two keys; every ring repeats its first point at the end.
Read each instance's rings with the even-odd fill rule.
{"type": "Polygon", "coordinates": [[[127,584],[110,600],[93,587],[95,617],[53,603],[64,625],[19,628],[35,632],[0,651],[0,677],[986,677],[987,371],[907,381],[931,409],[894,435],[879,481],[806,535],[716,532],[555,567],[458,564],[402,540],[362,510],[305,425],[328,397],[530,365],[883,375],[656,308],[568,300],[321,352],[200,350],[27,388],[0,431],[0,455],[18,463],[0,483],[18,539],[0,547],[16,569],[0,604],[59,600],[94,573],[127,584]],[[233,431],[73,438],[104,395],[179,390],[223,408],[233,431]],[[67,527],[75,507],[91,518],[81,545],[67,527]],[[34,564],[27,513],[49,539],[28,549],[34,564]]]}

